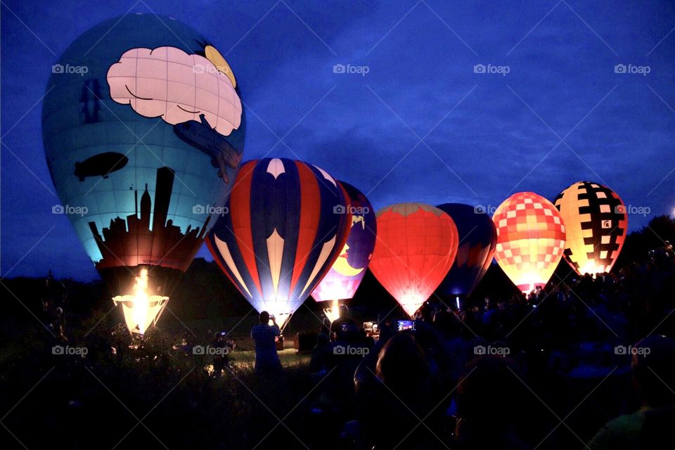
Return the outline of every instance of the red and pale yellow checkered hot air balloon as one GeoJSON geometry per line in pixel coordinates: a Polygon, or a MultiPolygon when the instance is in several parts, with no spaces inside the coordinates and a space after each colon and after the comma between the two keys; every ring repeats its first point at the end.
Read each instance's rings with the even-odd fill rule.
{"type": "Polygon", "coordinates": [[[563,257],[565,225],[546,198],[519,192],[503,201],[492,217],[497,227],[494,257],[524,293],[546,285],[563,257]]]}

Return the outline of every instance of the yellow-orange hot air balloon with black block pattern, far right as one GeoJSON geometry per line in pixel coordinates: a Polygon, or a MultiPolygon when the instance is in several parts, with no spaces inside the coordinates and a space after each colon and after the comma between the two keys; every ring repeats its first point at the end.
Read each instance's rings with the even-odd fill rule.
{"type": "Polygon", "coordinates": [[[577,274],[612,270],[626,239],[628,214],[619,195],[602,184],[579,181],[555,198],[567,231],[565,260],[577,274]]]}

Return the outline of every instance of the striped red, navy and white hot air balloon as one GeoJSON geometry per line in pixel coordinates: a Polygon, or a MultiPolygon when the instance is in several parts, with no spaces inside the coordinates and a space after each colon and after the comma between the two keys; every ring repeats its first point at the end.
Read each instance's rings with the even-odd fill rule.
{"type": "Polygon", "coordinates": [[[248,161],[207,245],[250,304],[283,328],[342,252],[352,221],[346,205],[338,182],[319,167],[248,161]]]}

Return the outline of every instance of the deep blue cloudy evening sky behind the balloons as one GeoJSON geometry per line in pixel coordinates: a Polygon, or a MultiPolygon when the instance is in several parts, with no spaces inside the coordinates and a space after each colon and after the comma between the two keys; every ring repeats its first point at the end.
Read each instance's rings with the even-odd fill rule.
{"type": "MultiPolygon", "coordinates": [[[[41,96],[70,41],[127,12],[176,18],[226,55],[248,115],[245,160],[307,160],[360,188],[376,209],[496,207],[518,191],[553,200],[591,180],[634,208],[629,231],[674,213],[669,1],[8,0],[2,276],[50,268],[97,276],[68,219],[51,214],[60,202],[44,158],[41,96]],[[334,73],[336,64],[368,73],[334,73]],[[479,64],[508,73],[475,73],[479,64]],[[649,73],[616,73],[617,64],[649,73]]],[[[210,259],[205,248],[199,255],[210,259]]]]}

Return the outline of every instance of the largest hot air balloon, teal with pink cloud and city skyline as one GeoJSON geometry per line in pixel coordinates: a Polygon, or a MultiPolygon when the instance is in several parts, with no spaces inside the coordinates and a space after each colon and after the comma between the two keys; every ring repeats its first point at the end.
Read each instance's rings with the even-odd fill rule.
{"type": "Polygon", "coordinates": [[[143,333],[231,190],[245,134],[236,79],[201,34],[154,14],[91,28],[52,72],[42,132],[60,211],[143,333]]]}

